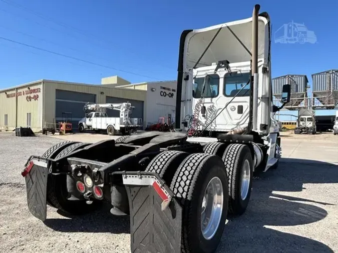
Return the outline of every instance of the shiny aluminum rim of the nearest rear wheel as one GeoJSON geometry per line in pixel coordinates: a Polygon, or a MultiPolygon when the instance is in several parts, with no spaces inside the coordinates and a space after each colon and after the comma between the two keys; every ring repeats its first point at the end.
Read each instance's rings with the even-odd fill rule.
{"type": "Polygon", "coordinates": [[[213,177],[203,195],[201,210],[201,230],[203,237],[210,240],[216,233],[223,212],[223,185],[218,177],[213,177]]]}

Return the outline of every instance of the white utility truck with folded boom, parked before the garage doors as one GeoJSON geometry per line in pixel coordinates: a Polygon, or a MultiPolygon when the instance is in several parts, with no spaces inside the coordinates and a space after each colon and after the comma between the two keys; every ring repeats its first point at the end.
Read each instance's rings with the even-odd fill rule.
{"type": "Polygon", "coordinates": [[[79,130],[107,130],[109,135],[115,135],[117,132],[122,134],[134,133],[142,126],[142,118],[129,118],[131,103],[86,103],[84,111],[94,110],[86,113],[86,117],[79,121],[79,130]],[[120,117],[108,117],[105,109],[114,109],[120,111],[120,117]]]}

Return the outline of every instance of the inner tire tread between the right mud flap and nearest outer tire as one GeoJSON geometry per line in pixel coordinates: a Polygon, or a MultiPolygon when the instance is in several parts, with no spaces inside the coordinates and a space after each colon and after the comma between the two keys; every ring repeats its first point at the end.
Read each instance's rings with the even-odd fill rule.
{"type": "Polygon", "coordinates": [[[159,174],[166,184],[170,185],[178,166],[188,154],[174,150],[163,151],[150,161],[145,171],[159,174]]]}

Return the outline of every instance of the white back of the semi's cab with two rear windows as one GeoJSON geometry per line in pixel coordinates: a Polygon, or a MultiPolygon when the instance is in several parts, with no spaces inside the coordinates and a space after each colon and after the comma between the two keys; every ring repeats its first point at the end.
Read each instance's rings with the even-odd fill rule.
{"type": "MultiPolygon", "coordinates": [[[[190,122],[188,127],[195,127],[196,130],[205,128],[205,133],[215,136],[217,133],[242,129],[248,125],[251,95],[250,61],[230,63],[229,67],[230,69],[219,68],[215,71],[217,63],[214,62],[210,66],[194,69],[191,107],[194,109],[193,117],[198,118],[198,123],[192,125],[193,122],[190,122]],[[224,108],[227,103],[229,105],[224,108]],[[210,122],[213,118],[215,119],[210,122]]],[[[263,67],[263,64],[258,64],[260,72],[258,93],[262,95],[259,109],[265,112],[259,113],[258,121],[266,125],[266,128],[272,127],[274,131],[279,127],[273,113],[268,112],[273,106],[271,94],[269,94],[271,83],[269,73],[264,72],[263,67]]],[[[266,128],[265,131],[260,130],[266,133],[266,128]]]]}

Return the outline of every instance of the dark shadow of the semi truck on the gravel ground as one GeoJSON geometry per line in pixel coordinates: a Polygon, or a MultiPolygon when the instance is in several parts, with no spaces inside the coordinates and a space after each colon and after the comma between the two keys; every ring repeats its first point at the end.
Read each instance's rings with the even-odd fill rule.
{"type": "MultiPolygon", "coordinates": [[[[337,168],[337,165],[326,162],[281,159],[277,169],[268,170],[254,180],[247,211],[238,217],[228,217],[217,252],[333,252],[319,241],[265,226],[293,226],[323,219],[327,211],[312,203],[322,206],[333,203],[290,197],[272,191],[301,191],[304,183],[337,183],[337,168]]],[[[129,216],[113,216],[109,209],[110,206],[103,206],[83,216],[47,219],[45,224],[65,232],[129,233],[129,216]]]]}

